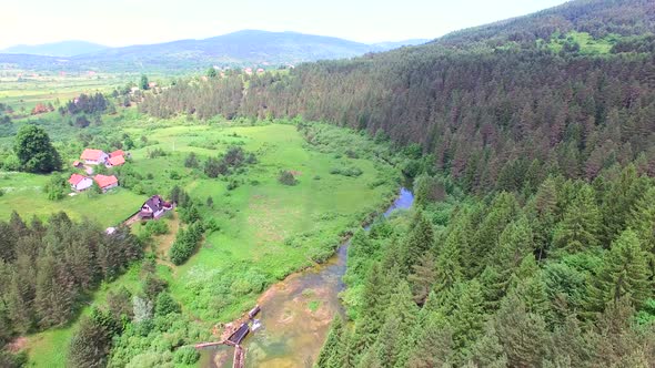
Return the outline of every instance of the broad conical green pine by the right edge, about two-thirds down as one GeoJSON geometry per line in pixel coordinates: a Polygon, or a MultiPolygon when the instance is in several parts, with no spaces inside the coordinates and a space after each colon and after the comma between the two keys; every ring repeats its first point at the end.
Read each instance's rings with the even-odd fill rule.
{"type": "Polygon", "coordinates": [[[603,268],[595,278],[592,288],[593,307],[603,310],[608,303],[616,303],[623,297],[638,307],[647,297],[653,296],[647,256],[642,251],[635,232],[624,231],[612,243],[603,268]]]}

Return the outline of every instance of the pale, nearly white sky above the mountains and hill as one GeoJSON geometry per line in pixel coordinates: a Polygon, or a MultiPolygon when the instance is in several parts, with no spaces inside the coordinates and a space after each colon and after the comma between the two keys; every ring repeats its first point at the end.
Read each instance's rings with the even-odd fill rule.
{"type": "Polygon", "coordinates": [[[1,0],[0,49],[84,40],[110,47],[238,30],[296,31],[374,43],[447,32],[564,0],[1,0]]]}

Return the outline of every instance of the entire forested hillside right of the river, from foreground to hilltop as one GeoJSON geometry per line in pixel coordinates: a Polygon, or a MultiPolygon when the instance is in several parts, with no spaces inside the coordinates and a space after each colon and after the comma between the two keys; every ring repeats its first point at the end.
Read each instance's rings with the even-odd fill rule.
{"type": "Polygon", "coordinates": [[[573,1],[157,116],[296,116],[407,145],[417,208],[357,233],[319,367],[655,365],[655,3],[573,1]]]}

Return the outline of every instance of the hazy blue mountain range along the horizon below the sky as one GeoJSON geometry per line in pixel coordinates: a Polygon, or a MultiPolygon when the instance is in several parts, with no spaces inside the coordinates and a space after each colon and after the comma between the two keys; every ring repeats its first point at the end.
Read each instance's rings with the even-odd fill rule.
{"type": "MultiPolygon", "coordinates": [[[[407,40],[366,44],[334,37],[298,32],[268,32],[244,30],[203,40],[179,40],[157,44],[104,48],[95,50],[72,45],[79,41],[60,42],[41,47],[13,47],[0,54],[0,62],[41,70],[101,70],[121,72],[160,71],[183,73],[204,70],[211,65],[254,67],[286,65],[325,59],[345,59],[367,52],[387,51],[401,45],[424,43],[427,40],[407,40]],[[69,44],[69,52],[64,47],[69,44]],[[59,52],[54,52],[58,49],[59,52]],[[81,52],[81,50],[84,50],[81,52]],[[16,55],[22,53],[24,55],[16,55]],[[52,60],[34,54],[66,58],[52,60]]],[[[87,43],[87,45],[94,45],[87,43]]]]}

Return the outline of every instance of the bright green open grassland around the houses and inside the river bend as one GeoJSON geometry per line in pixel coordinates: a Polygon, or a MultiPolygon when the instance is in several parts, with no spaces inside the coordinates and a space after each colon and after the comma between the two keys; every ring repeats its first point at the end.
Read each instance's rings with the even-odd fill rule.
{"type": "MultiPolygon", "coordinates": [[[[213,218],[220,229],[208,234],[196,254],[182,266],[159,268],[184,313],[206,326],[206,330],[252,307],[268,285],[312,265],[312,259],[325,252],[333,252],[342,234],[381,209],[396,191],[397,172],[372,160],[367,150],[373,143],[355,133],[330,127],[333,144],[314,147],[291,124],[180,123],[139,119],[120,123],[120,129],[132,136],[145,135],[150,142],[132,150],[133,160],[128,163],[142,175],[139,184],[143,190],[165,195],[173,185],[180,185],[201,203],[209,196],[213,200],[213,206],[202,205],[201,212],[205,218],[213,218]],[[343,142],[352,142],[362,159],[343,155],[343,142]],[[208,178],[202,168],[183,165],[190,152],[199,156],[202,167],[208,156],[222,154],[231,145],[254,153],[258,162],[229,178],[208,178]],[[162,149],[165,156],[149,159],[148,153],[154,149],[162,149]],[[331,174],[332,168],[344,166],[355,166],[362,174],[331,174]],[[281,170],[293,171],[298,185],[280,184],[281,170]],[[228,190],[230,181],[236,182],[238,187],[228,190]]],[[[47,181],[47,176],[0,174],[0,186],[7,191],[0,197],[0,216],[9,216],[11,208],[23,216],[67,211],[73,217],[87,216],[109,226],[138,209],[145,198],[122,188],[92,198],[82,194],[50,202],[41,190],[47,181]]],[[[177,222],[171,226],[174,227],[177,222]]],[[[162,242],[172,239],[169,234],[155,244],[165,247],[162,242]]],[[[165,256],[161,263],[168,264],[165,256]]],[[[138,265],[118,280],[103,285],[91,303],[102,305],[109,289],[123,285],[132,290],[139,288],[138,265]]],[[[89,310],[87,307],[82,313],[89,310]]],[[[63,367],[68,341],[75,328],[72,323],[30,336],[30,365],[63,367]]]]}

